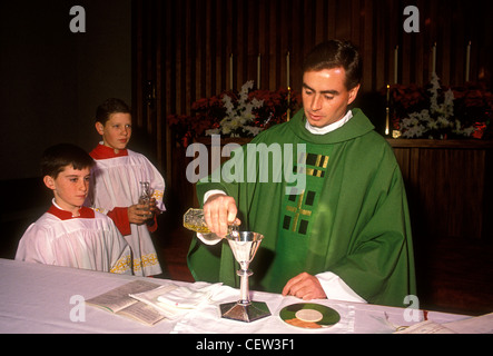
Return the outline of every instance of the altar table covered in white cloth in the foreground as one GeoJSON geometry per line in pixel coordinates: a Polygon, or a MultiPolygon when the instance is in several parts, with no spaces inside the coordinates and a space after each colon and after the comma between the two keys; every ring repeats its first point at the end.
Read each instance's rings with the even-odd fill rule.
{"type": "MultiPolygon", "coordinates": [[[[341,315],[341,320],[318,329],[292,326],[279,317],[279,312],[289,305],[300,303],[295,297],[253,291],[256,300],[265,301],[272,316],[243,323],[221,318],[218,305],[235,300],[238,290],[227,286],[214,286],[214,301],[175,319],[164,319],[154,326],[115,315],[108,310],[81,304],[130,281],[148,281],[157,285],[204,286],[179,280],[115,275],[93,270],[48,266],[17,260],[0,259],[0,332],[4,334],[208,334],[206,339],[217,340],[211,334],[241,335],[245,340],[257,338],[295,338],[295,334],[391,334],[403,326],[431,320],[446,325],[452,322],[470,320],[471,317],[433,310],[387,307],[342,300],[316,299],[313,303],[331,307],[341,315]],[[83,314],[82,314],[83,313],[83,314]],[[283,334],[280,337],[266,335],[283,334]]],[[[474,319],[472,319],[474,320],[474,319]]],[[[204,340],[200,336],[200,340],[204,340]]],[[[250,342],[248,346],[254,347],[250,342]]],[[[184,348],[195,347],[183,345],[184,348]]],[[[287,346],[286,346],[287,347],[287,346]]],[[[300,344],[296,349],[302,348],[300,344]]]]}

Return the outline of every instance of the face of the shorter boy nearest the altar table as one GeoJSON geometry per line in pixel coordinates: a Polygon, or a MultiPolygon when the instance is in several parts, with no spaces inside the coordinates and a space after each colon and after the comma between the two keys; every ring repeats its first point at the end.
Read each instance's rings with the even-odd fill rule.
{"type": "Polygon", "coordinates": [[[57,178],[45,176],[45,185],[53,190],[55,201],[63,210],[77,212],[89,192],[90,168],[73,169],[71,165],[57,178]]]}

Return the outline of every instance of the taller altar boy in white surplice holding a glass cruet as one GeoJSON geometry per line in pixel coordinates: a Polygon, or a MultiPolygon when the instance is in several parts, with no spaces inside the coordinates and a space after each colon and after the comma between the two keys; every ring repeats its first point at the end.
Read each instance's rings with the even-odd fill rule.
{"type": "Polygon", "coordinates": [[[89,154],[92,168],[92,196],[87,206],[107,214],[131,247],[134,274],[161,274],[150,233],[157,229],[156,216],[166,210],[162,204],[165,180],[144,156],[127,149],[131,137],[130,108],[119,99],[108,99],[96,110],[96,130],[102,141],[89,154]],[[140,182],[152,190],[150,214],[139,205],[140,182]]]}

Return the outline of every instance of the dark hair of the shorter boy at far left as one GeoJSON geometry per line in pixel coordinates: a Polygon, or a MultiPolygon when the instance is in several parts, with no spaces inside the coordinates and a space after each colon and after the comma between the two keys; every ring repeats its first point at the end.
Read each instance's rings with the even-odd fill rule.
{"type": "Polygon", "coordinates": [[[41,175],[57,178],[67,166],[73,169],[92,168],[95,160],[83,149],[71,144],[59,144],[45,150],[41,157],[41,175]]]}

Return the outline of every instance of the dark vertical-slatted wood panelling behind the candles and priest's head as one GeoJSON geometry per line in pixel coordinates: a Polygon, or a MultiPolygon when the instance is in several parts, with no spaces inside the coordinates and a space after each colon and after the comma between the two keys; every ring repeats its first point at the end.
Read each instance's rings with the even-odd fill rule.
{"type": "MultiPolygon", "coordinates": [[[[432,46],[436,42],[436,71],[442,82],[464,83],[465,50],[472,41],[471,80],[490,82],[491,7],[489,2],[464,0],[135,1],[136,121],[148,132],[158,166],[172,188],[185,179],[174,165],[184,152],[176,151],[166,117],[189,113],[195,100],[230,89],[231,55],[234,89],[247,80],[257,80],[259,55],[258,87],[270,90],[286,87],[289,52],[289,83],[299,90],[300,66],[307,51],[326,39],[347,39],[363,53],[362,95],[365,95],[394,82],[397,46],[398,82],[428,81],[432,46]],[[418,33],[406,33],[403,29],[407,4],[420,10],[418,33]]],[[[367,108],[367,111],[375,110],[367,108]]]]}

